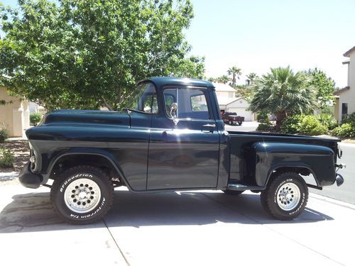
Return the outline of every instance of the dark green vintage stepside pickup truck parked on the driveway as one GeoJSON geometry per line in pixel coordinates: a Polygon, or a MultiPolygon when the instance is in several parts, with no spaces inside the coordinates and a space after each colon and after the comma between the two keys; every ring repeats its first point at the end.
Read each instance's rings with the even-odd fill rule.
{"type": "Polygon", "coordinates": [[[290,220],[305,209],[308,188],[344,182],[339,140],[227,132],[211,83],[153,77],[137,84],[123,111],[59,110],[26,131],[31,159],[25,187],[50,187],[69,223],[102,218],[114,187],[131,192],[220,189],[261,192],[263,208],[290,220]],[[306,184],[302,176],[312,174],[306,184]]]}

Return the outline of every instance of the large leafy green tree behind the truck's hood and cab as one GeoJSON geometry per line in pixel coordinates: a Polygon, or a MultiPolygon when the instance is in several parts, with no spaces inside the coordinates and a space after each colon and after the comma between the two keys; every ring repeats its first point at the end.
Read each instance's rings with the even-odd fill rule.
{"type": "Polygon", "coordinates": [[[47,109],[120,109],[150,76],[202,77],[190,0],[18,0],[0,6],[0,79],[47,109]]]}

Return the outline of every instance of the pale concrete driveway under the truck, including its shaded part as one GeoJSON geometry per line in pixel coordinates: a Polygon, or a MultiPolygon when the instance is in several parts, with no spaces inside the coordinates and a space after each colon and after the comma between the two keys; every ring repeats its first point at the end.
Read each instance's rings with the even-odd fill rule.
{"type": "Polygon", "coordinates": [[[115,192],[104,221],[62,223],[49,189],[0,182],[1,265],[354,265],[355,206],[310,195],[295,221],[253,193],[115,192]],[[2,185],[1,185],[2,184],[2,185]]]}

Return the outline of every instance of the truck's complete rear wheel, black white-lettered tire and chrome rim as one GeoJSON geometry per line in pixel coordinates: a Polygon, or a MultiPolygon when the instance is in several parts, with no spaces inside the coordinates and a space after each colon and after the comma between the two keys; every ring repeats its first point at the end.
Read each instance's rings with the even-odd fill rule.
{"type": "Polygon", "coordinates": [[[305,209],[308,188],[305,180],[295,172],[278,174],[261,192],[261,205],[279,220],[292,220],[305,209]]]}

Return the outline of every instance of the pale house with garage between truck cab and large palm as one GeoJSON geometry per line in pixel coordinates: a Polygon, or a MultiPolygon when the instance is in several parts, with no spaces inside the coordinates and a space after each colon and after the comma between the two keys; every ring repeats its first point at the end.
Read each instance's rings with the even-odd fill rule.
{"type": "Polygon", "coordinates": [[[223,83],[213,84],[216,90],[219,109],[222,112],[235,112],[239,116],[244,116],[245,121],[254,121],[255,115],[249,108],[249,102],[243,97],[236,97],[236,90],[223,83]]]}

